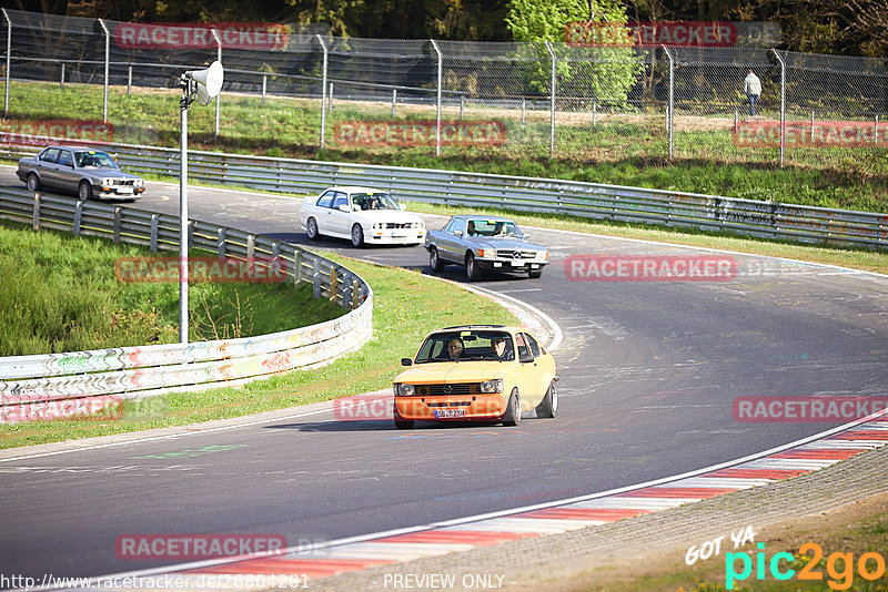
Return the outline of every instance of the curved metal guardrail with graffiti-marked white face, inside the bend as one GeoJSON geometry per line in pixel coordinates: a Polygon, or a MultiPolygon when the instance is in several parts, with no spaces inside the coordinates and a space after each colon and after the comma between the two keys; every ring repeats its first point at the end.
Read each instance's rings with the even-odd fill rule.
{"type": "MultiPolygon", "coordinates": [[[[179,218],[75,198],[0,190],[0,218],[73,235],[179,248],[179,218]]],[[[256,337],[191,344],[119,347],[0,357],[0,421],[8,406],[143,397],[173,387],[231,384],[291,369],[307,369],[361,348],[372,335],[373,292],[347,267],[300,247],[204,222],[190,223],[194,248],[234,258],[278,257],[287,280],[310,283],[315,297],[349,310],[326,323],[256,337]]]]}

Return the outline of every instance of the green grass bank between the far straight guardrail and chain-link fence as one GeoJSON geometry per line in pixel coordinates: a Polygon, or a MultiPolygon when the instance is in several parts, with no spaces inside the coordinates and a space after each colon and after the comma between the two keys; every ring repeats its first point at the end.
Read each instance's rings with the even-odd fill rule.
{"type": "MultiPolygon", "coordinates": [[[[339,101],[327,116],[324,150],[319,150],[320,101],[222,95],[221,132],[214,135],[215,109],[189,110],[192,149],[268,156],[361,162],[526,175],[617,185],[656,187],[750,200],[888,212],[888,149],[790,149],[778,166],[778,149],[741,149],[730,135],[733,118],[676,118],[675,157],[668,155],[663,116],[556,116],[556,154],[548,153],[547,114],[533,112],[526,124],[516,110],[467,108],[465,118],[496,119],[507,130],[503,145],[374,147],[343,145],[337,123],[390,120],[391,105],[339,101]],[[687,120],[687,121],[686,121],[687,120]]],[[[28,130],[40,121],[99,120],[102,88],[14,82],[4,129],[28,130]]],[[[434,106],[401,105],[397,121],[434,119],[434,106]]],[[[457,119],[445,109],[443,118],[457,119]]],[[[112,88],[109,121],[113,141],[159,146],[179,145],[178,91],[112,88]]]]}

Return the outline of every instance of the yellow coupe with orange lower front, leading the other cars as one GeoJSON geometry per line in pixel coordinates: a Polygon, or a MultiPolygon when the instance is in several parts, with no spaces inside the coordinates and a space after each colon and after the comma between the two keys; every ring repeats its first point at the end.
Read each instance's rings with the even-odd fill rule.
{"type": "Polygon", "coordinates": [[[415,421],[515,426],[524,411],[555,417],[555,360],[522,327],[467,325],[431,333],[394,380],[398,429],[415,421]]]}

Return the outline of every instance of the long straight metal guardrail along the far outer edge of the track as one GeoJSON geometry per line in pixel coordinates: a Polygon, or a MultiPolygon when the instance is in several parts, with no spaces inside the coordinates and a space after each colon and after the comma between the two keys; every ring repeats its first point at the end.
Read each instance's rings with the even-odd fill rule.
{"type": "MultiPolygon", "coordinates": [[[[110,144],[130,171],[179,175],[174,149],[110,144]]],[[[33,149],[0,145],[0,156],[33,149]]],[[[446,205],[563,214],[602,221],[730,232],[761,238],[835,246],[888,247],[888,214],[830,210],[644,187],[522,177],[189,152],[193,181],[283,193],[317,193],[331,185],[371,185],[400,198],[446,205]]]]}

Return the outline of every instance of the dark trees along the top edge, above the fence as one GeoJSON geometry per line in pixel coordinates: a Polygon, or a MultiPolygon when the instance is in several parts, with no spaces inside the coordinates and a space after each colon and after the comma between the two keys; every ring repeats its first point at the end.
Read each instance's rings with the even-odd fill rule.
{"type": "Polygon", "coordinates": [[[324,23],[340,37],[564,40],[593,22],[770,21],[783,49],[888,58],[888,0],[12,0],[10,8],[137,22],[324,23]],[[556,31],[561,39],[549,39],[556,31]],[[528,37],[529,35],[529,37],[528,37]]]}

